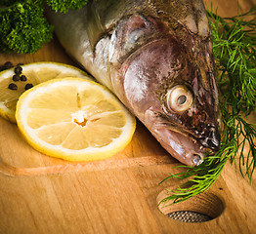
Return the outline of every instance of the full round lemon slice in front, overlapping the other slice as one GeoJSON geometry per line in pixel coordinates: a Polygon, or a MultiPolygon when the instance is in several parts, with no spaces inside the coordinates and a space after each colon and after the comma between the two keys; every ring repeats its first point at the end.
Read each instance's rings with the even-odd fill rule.
{"type": "Polygon", "coordinates": [[[31,146],[69,161],[112,156],[130,142],[136,126],[105,87],[80,78],[50,80],[26,91],[16,118],[31,146]]]}

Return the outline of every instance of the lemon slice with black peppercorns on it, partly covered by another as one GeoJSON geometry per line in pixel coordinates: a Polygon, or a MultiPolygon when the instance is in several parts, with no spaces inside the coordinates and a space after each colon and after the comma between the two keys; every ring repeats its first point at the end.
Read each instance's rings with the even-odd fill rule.
{"type": "Polygon", "coordinates": [[[15,68],[0,72],[0,116],[15,123],[15,111],[18,98],[25,91],[25,85],[31,84],[35,86],[42,82],[55,78],[64,77],[83,77],[90,79],[82,70],[57,62],[34,62],[21,65],[21,75],[24,75],[26,81],[13,81],[15,68]],[[9,89],[9,85],[13,83],[17,86],[17,90],[9,89]]]}

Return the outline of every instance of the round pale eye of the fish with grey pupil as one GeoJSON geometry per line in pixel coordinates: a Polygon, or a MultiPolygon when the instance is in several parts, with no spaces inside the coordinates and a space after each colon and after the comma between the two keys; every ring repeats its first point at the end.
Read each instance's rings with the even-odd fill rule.
{"type": "Polygon", "coordinates": [[[192,92],[186,86],[175,86],[167,93],[168,108],[183,112],[192,106],[192,92]]]}

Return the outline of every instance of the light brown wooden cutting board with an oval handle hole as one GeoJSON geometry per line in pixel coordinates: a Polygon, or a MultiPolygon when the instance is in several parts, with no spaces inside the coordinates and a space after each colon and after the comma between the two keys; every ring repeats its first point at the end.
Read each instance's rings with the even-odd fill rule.
{"type": "MultiPolygon", "coordinates": [[[[210,1],[206,1],[210,6],[210,1]]],[[[241,12],[255,2],[239,1],[241,12]]],[[[218,0],[221,16],[237,13],[235,0],[218,0]]],[[[75,63],[54,39],[34,55],[0,54],[0,63],[33,61],[75,63]]],[[[255,121],[255,118],[254,120],[255,121]]],[[[204,193],[176,206],[158,207],[169,179],[180,165],[138,121],[131,143],[104,161],[69,163],[33,150],[16,125],[0,118],[0,234],[30,233],[256,233],[256,179],[250,183],[227,164],[204,193]],[[186,223],[166,214],[210,215],[210,221],[186,223]]]]}

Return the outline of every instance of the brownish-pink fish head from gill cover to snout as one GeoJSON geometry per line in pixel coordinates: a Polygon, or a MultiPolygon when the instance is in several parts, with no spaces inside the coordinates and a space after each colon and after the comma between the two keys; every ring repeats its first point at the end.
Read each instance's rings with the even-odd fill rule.
{"type": "Polygon", "coordinates": [[[173,157],[194,167],[220,147],[211,38],[157,30],[161,37],[122,62],[120,97],[173,157]]]}

